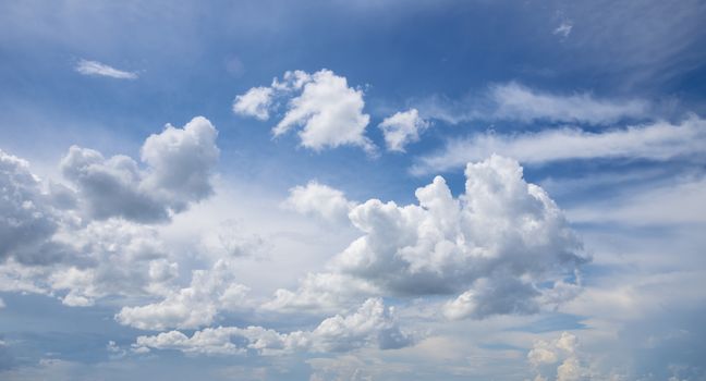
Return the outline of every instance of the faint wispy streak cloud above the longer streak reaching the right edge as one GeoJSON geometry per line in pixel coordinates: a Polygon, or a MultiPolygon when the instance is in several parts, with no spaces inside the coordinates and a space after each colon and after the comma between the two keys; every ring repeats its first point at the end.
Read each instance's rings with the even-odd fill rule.
{"type": "Polygon", "coordinates": [[[463,101],[433,97],[418,102],[417,108],[427,118],[452,124],[501,120],[606,125],[649,116],[649,103],[643,100],[597,99],[589,93],[551,94],[515,82],[491,85],[463,101]]]}

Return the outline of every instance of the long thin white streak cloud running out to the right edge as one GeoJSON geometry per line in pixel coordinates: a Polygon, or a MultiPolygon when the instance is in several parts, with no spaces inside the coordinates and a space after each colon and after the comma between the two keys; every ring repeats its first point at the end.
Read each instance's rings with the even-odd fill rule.
{"type": "Polygon", "coordinates": [[[696,116],[680,124],[655,122],[595,133],[558,128],[512,135],[478,134],[450,140],[443,150],[423,157],[412,172],[422,174],[459,168],[491,153],[513,157],[527,164],[597,158],[662,161],[701,155],[704,147],[706,122],[696,116]]]}

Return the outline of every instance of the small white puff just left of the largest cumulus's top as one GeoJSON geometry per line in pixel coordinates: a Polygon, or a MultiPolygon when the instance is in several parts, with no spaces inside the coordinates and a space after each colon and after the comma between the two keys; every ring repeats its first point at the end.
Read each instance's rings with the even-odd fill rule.
{"type": "Polygon", "coordinates": [[[349,201],[343,192],[316,181],[290,190],[283,206],[302,214],[318,216],[327,221],[346,221],[355,202],[349,201]]]}

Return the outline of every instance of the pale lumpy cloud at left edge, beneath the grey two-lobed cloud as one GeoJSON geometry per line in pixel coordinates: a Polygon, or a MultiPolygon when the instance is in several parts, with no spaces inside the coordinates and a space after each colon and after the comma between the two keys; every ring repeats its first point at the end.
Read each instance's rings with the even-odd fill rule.
{"type": "Polygon", "coordinates": [[[0,266],[0,290],[56,295],[69,306],[90,306],[109,295],[161,295],[176,278],[176,263],[156,231],[127,221],[62,226],[46,245],[61,249],[61,256],[42,262],[7,260],[0,266]]]}

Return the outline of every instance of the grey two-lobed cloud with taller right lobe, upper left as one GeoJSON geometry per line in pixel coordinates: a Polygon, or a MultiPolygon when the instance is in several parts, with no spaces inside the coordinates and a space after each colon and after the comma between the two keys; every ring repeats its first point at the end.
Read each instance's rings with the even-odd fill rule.
{"type": "Polygon", "coordinates": [[[210,175],[219,156],[216,128],[194,118],[183,128],[167,125],[142,147],[147,169],[126,156],[109,159],[95,150],[71,147],[61,161],[92,218],[122,217],[138,222],[166,221],[212,193],[210,175]]]}

